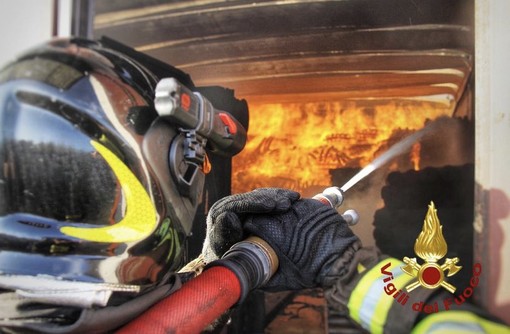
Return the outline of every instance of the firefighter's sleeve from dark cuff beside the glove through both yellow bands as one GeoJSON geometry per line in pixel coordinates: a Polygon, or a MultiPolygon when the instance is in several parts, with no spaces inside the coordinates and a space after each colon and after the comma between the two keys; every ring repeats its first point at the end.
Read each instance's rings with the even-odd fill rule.
{"type": "Polygon", "coordinates": [[[407,292],[414,278],[401,270],[405,264],[376,249],[361,248],[348,260],[339,259],[331,270],[334,282],[326,288],[326,298],[370,333],[510,333],[472,304],[445,311],[443,302],[452,297],[445,290],[407,292]]]}

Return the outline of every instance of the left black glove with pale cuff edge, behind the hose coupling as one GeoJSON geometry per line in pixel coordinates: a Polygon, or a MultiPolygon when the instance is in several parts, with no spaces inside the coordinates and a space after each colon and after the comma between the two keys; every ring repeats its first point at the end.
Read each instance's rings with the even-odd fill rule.
{"type": "Polygon", "coordinates": [[[299,193],[279,188],[260,188],[227,196],[213,204],[207,215],[207,232],[202,248],[206,263],[217,260],[235,243],[246,239],[243,222],[252,214],[277,214],[290,209],[299,193]]]}

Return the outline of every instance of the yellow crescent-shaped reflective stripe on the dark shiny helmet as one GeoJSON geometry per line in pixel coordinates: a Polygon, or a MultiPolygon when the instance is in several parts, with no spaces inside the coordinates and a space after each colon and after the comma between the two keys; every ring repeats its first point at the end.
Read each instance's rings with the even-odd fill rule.
{"type": "Polygon", "coordinates": [[[126,214],[116,224],[102,227],[64,226],[60,231],[68,236],[97,242],[129,242],[149,236],[157,225],[156,209],[131,170],[108,148],[91,141],[92,146],[112,168],[126,199],[126,214]]]}

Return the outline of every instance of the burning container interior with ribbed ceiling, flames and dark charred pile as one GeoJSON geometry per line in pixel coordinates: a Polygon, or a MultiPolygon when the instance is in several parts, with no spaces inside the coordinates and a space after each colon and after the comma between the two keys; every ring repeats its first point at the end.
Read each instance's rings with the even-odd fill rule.
{"type": "Polygon", "coordinates": [[[97,2],[94,10],[94,37],[115,38],[197,85],[229,87],[248,101],[247,146],[211,181],[208,203],[222,195],[217,187],[285,187],[309,197],[342,186],[436,124],[354,185],[344,207],[360,213],[354,230],[365,245],[402,258],[413,254],[434,201],[448,256],[469,267],[473,1],[138,0],[97,2]]]}

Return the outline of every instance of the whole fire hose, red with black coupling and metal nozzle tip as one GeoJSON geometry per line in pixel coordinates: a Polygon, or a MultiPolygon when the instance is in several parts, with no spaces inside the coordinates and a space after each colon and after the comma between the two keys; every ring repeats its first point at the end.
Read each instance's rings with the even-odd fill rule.
{"type": "MultiPolygon", "coordinates": [[[[336,208],[343,202],[343,193],[331,187],[314,199],[336,208]]],[[[346,212],[344,218],[350,224],[358,219],[355,212],[346,212]]],[[[118,333],[200,333],[242,299],[243,293],[266,283],[278,268],[278,257],[268,243],[252,236],[232,246],[215,263],[118,333]]]]}

